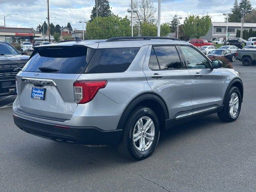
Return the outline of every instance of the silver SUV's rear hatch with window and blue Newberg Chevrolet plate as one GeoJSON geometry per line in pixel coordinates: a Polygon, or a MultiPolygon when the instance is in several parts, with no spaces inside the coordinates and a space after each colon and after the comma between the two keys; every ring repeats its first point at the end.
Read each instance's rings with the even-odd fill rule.
{"type": "Polygon", "coordinates": [[[17,75],[20,112],[50,120],[71,119],[77,108],[73,83],[95,50],[77,45],[37,47],[17,75]]]}

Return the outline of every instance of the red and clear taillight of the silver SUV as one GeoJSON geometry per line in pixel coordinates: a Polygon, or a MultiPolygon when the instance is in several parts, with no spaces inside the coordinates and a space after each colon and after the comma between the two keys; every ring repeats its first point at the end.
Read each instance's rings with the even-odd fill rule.
{"type": "Polygon", "coordinates": [[[107,80],[74,82],[75,102],[78,104],[88,103],[95,97],[99,89],[106,87],[107,83],[107,80]]]}

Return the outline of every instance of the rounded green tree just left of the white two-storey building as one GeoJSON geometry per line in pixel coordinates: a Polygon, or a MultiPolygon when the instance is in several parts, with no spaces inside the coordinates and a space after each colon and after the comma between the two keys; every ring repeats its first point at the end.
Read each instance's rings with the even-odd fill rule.
{"type": "Polygon", "coordinates": [[[211,26],[210,16],[199,16],[190,15],[184,20],[184,33],[190,38],[200,38],[205,36],[211,26]]]}

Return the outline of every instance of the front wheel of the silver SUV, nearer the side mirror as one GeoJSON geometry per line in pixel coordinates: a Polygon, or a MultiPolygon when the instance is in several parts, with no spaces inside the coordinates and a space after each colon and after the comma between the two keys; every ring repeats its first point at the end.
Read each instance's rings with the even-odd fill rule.
{"type": "Polygon", "coordinates": [[[237,87],[232,86],[224,101],[224,107],[218,112],[218,117],[226,122],[235,121],[241,110],[242,97],[237,87]]]}

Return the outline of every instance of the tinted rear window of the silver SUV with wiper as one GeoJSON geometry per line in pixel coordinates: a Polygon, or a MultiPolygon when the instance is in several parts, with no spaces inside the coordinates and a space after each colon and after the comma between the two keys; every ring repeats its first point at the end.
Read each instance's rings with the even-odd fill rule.
{"type": "Polygon", "coordinates": [[[51,73],[82,74],[96,49],[82,46],[41,47],[22,71],[42,72],[39,68],[54,68],[51,73]]]}

